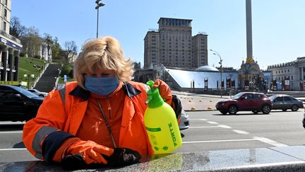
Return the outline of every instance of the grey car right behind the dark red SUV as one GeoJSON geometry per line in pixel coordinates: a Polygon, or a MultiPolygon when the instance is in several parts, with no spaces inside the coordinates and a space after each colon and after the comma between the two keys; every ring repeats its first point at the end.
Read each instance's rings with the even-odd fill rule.
{"type": "Polygon", "coordinates": [[[304,108],[303,101],[297,100],[292,96],[288,95],[273,95],[270,96],[271,102],[273,103],[273,109],[281,109],[286,111],[291,109],[292,111],[297,111],[299,108],[304,108]]]}

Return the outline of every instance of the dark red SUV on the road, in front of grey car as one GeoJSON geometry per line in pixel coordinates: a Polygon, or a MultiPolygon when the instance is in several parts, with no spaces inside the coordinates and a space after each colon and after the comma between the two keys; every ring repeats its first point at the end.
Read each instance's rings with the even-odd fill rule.
{"type": "Polygon", "coordinates": [[[264,93],[241,92],[234,95],[231,99],[218,101],[216,109],[222,114],[237,114],[238,111],[252,111],[254,114],[262,112],[269,114],[273,108],[270,98],[264,93]]]}

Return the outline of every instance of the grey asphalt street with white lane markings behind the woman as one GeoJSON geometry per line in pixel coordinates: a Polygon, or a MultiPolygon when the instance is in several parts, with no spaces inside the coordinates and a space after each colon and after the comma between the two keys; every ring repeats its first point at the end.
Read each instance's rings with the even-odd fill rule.
{"type": "MultiPolygon", "coordinates": [[[[303,112],[304,109],[285,113],[273,110],[270,115],[188,112],[190,128],[181,131],[184,143],[175,152],[304,145],[303,112]]],[[[0,122],[0,163],[35,160],[24,148],[22,128],[23,122],[0,122]]]]}

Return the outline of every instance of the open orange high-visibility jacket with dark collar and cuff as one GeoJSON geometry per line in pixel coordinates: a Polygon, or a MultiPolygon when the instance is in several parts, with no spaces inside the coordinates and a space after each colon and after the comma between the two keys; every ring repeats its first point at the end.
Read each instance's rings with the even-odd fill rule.
{"type": "MultiPolygon", "coordinates": [[[[61,144],[75,137],[88,105],[89,91],[76,82],[66,84],[65,92],[53,90],[44,98],[34,119],[23,127],[23,142],[28,151],[38,159],[51,162],[61,144]],[[61,96],[64,93],[64,96],[61,96]]],[[[119,134],[119,147],[153,154],[144,125],[147,105],[144,84],[130,81],[123,86],[124,112],[119,134]]]]}

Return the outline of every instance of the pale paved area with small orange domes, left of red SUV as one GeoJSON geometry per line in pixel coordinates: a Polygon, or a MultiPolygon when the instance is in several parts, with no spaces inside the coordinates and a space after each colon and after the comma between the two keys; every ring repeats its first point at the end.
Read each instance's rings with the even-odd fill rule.
{"type": "Polygon", "coordinates": [[[186,111],[189,110],[215,110],[215,104],[222,100],[227,99],[229,96],[218,96],[218,95],[208,95],[208,94],[196,94],[196,93],[187,93],[172,91],[173,94],[176,94],[182,103],[183,109],[186,111]]]}

